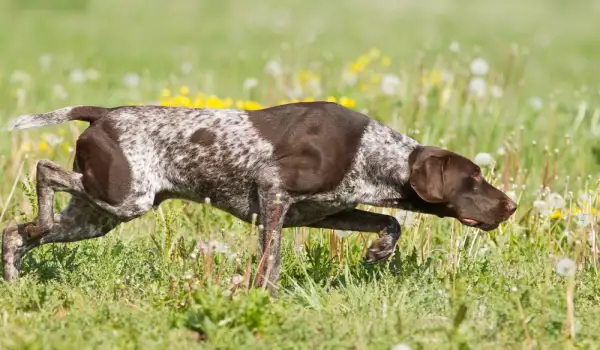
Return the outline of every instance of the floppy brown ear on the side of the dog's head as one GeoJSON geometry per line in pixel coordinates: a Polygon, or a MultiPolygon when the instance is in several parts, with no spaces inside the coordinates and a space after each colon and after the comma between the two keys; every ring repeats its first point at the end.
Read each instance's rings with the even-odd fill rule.
{"type": "Polygon", "coordinates": [[[444,165],[447,157],[436,154],[417,156],[410,174],[410,186],[419,197],[429,203],[444,201],[444,165]]]}

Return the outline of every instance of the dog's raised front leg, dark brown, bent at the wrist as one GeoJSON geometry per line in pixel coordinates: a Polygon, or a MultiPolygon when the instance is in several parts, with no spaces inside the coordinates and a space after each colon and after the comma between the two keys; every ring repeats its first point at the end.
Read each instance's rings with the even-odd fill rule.
{"type": "Polygon", "coordinates": [[[400,238],[400,224],[396,218],[359,209],[333,214],[306,227],[377,232],[379,238],[367,250],[366,261],[369,263],[384,261],[392,255],[400,238]]]}

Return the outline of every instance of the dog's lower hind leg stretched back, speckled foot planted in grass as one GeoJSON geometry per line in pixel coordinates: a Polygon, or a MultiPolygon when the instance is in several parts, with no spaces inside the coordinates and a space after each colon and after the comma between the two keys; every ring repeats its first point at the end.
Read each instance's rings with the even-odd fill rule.
{"type": "Polygon", "coordinates": [[[73,197],[67,208],[54,215],[51,228],[44,236],[29,237],[28,228],[35,227],[34,222],[9,226],[2,234],[4,279],[13,281],[18,278],[21,259],[28,251],[39,245],[100,237],[119,223],[121,220],[98,211],[88,201],[73,197]]]}

